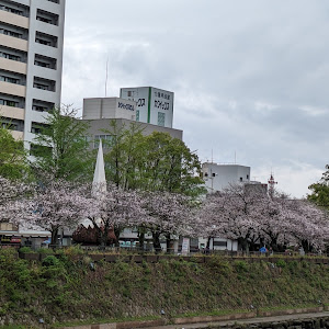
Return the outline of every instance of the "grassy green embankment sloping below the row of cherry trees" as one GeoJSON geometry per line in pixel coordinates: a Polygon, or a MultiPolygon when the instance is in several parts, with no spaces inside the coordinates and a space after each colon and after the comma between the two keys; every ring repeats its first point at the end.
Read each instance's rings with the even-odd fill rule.
{"type": "Polygon", "coordinates": [[[0,326],[90,324],[126,319],[224,315],[329,304],[329,266],[305,261],[276,265],[207,263],[177,259],[159,263],[100,262],[77,249],[43,263],[0,250],[0,326]],[[252,306],[251,306],[252,305],[252,306]]]}

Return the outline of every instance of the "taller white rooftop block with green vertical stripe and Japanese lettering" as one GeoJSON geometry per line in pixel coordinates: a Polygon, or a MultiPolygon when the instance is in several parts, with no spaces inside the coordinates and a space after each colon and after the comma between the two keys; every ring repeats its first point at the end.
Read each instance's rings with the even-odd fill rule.
{"type": "Polygon", "coordinates": [[[120,97],[137,103],[136,121],[172,128],[173,92],[152,87],[122,88],[120,97]]]}

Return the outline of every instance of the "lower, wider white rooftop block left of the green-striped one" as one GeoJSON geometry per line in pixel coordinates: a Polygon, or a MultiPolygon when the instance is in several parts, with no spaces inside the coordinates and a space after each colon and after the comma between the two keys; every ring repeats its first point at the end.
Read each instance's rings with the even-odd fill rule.
{"type": "Polygon", "coordinates": [[[83,99],[83,120],[136,120],[136,102],[120,98],[83,99]]]}

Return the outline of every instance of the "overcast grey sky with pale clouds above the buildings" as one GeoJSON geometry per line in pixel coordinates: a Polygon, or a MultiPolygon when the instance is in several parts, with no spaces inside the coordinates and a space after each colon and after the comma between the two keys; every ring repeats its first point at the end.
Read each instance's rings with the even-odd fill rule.
{"type": "Polygon", "coordinates": [[[202,161],[300,197],[329,162],[328,41],[328,0],[67,0],[63,103],[104,97],[109,58],[107,97],[173,91],[202,161]]]}

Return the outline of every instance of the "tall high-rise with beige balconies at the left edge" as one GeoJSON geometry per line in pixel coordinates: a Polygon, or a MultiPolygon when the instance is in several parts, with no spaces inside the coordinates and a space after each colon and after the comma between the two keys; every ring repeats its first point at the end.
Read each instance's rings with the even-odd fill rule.
{"type": "Polygon", "coordinates": [[[0,115],[26,148],[60,105],[66,0],[0,0],[0,115]]]}

